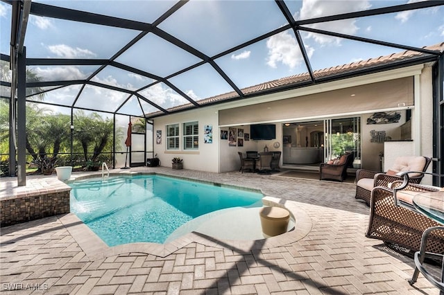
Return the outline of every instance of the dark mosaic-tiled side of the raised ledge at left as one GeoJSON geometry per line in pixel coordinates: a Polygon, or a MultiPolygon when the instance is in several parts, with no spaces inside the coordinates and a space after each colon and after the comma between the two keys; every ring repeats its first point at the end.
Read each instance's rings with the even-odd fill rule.
{"type": "Polygon", "coordinates": [[[0,226],[69,213],[69,191],[0,199],[0,226]]]}

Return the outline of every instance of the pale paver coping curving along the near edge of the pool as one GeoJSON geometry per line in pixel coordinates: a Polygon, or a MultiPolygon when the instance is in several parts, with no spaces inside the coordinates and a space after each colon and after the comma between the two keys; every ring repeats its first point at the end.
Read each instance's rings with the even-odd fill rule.
{"type": "Polygon", "coordinates": [[[208,247],[228,248],[242,252],[254,249],[270,249],[297,242],[311,231],[311,219],[307,213],[298,208],[298,202],[269,196],[262,198],[262,202],[264,206],[286,208],[295,220],[294,229],[287,231],[287,233],[282,233],[282,235],[261,240],[223,240],[193,231],[167,244],[138,242],[108,247],[108,245],[74,213],[61,215],[58,218],[90,260],[108,258],[123,253],[146,253],[163,258],[192,242],[208,247]]]}

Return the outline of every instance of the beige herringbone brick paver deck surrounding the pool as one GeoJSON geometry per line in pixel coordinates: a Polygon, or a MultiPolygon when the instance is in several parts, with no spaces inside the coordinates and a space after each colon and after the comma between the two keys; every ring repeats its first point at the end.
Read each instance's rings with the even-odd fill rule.
{"type": "MultiPolygon", "coordinates": [[[[296,229],[262,240],[189,233],[165,245],[107,247],[71,213],[1,228],[2,294],[438,294],[414,262],[365,231],[369,208],[355,186],[228,172],[131,168],[259,188],[295,215],[296,229]],[[16,291],[11,291],[16,289],[16,291]]],[[[101,172],[96,172],[101,175],[101,172]]],[[[85,173],[74,173],[73,177],[85,173]]],[[[54,190],[56,175],[0,179],[0,198],[54,190]]],[[[239,216],[239,229],[246,216],[239,216]]]]}

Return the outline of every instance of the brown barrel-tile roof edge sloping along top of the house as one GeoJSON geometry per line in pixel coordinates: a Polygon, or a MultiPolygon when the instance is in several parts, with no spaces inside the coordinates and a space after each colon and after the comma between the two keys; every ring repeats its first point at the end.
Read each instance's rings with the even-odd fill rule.
{"type": "MultiPolygon", "coordinates": [[[[424,46],[422,47],[429,51],[437,51],[438,53],[444,52],[444,42],[435,44],[432,46],[424,46]]],[[[359,62],[351,62],[350,64],[342,64],[339,66],[332,66],[326,69],[320,69],[313,72],[314,78],[316,80],[325,79],[325,78],[333,78],[336,75],[343,75],[345,73],[354,73],[363,70],[377,68],[379,66],[384,66],[388,64],[397,64],[402,61],[415,60],[418,57],[424,57],[427,53],[421,53],[418,51],[402,51],[400,53],[392,53],[390,55],[384,55],[379,57],[370,58],[368,60],[360,60],[359,62]]],[[[268,82],[264,82],[261,84],[257,84],[254,86],[246,87],[241,89],[244,95],[251,97],[254,93],[263,93],[264,91],[270,91],[271,89],[288,89],[293,86],[302,87],[305,84],[313,84],[311,82],[311,78],[309,73],[300,73],[298,75],[291,75],[288,77],[280,78],[277,80],[272,80],[268,82]]],[[[284,90],[282,89],[282,90],[284,90]]],[[[196,100],[199,105],[208,105],[216,102],[223,102],[224,100],[232,100],[235,98],[239,98],[239,95],[236,91],[230,91],[228,93],[223,93],[217,96],[212,96],[210,98],[204,98],[203,100],[196,100]]],[[[187,103],[185,105],[178,105],[176,107],[171,107],[167,109],[167,111],[182,111],[185,109],[192,109],[194,105],[187,103]]],[[[146,114],[147,116],[156,116],[159,114],[164,114],[162,111],[157,111],[151,114],[146,114]]]]}

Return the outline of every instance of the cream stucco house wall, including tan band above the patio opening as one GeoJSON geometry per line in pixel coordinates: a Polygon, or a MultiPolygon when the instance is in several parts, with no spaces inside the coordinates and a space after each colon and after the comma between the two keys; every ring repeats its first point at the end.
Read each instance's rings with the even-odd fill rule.
{"type": "MultiPolygon", "coordinates": [[[[162,166],[171,166],[173,157],[182,157],[184,159],[184,168],[192,170],[201,170],[209,172],[228,172],[239,170],[239,155],[237,152],[245,152],[247,150],[257,150],[261,152],[267,145],[268,150],[282,151],[282,123],[291,119],[291,111],[284,108],[282,111],[282,102],[289,102],[289,99],[298,97],[299,101],[309,101],[307,98],[315,98],[311,100],[316,103],[298,105],[298,112],[308,114],[307,120],[322,119],[323,116],[316,113],[316,107],[332,104],[331,93],[335,93],[335,97],[345,95],[347,93],[350,100],[350,87],[355,89],[364,89],[361,93],[365,93],[365,99],[353,102],[355,109],[349,111],[335,111],[330,116],[361,116],[361,143],[362,143],[362,166],[361,168],[370,170],[379,170],[379,152],[384,151],[384,144],[381,146],[369,145],[370,138],[368,134],[370,129],[384,128],[388,136],[398,137],[399,127],[405,122],[405,109],[411,108],[412,112],[412,137],[413,137],[413,153],[422,154],[428,157],[432,155],[432,68],[430,66],[411,66],[398,70],[386,71],[383,73],[373,73],[358,78],[350,78],[342,81],[335,81],[313,87],[305,87],[304,89],[293,89],[280,93],[267,94],[256,98],[248,98],[227,102],[221,105],[211,107],[203,107],[193,109],[178,114],[162,116],[155,118],[154,133],[156,130],[162,130],[162,144],[155,143],[154,150],[157,157],[160,158],[162,166]],[[393,83],[395,81],[395,83],[393,83]],[[379,83],[379,84],[378,84],[379,83]],[[393,87],[390,87],[392,85],[393,87]],[[398,85],[398,88],[395,87],[398,85]],[[413,89],[414,85],[414,89],[413,89]],[[382,91],[385,89],[385,92],[382,91]],[[321,93],[322,92],[322,93],[321,93]],[[319,94],[321,93],[321,94],[319,94]],[[341,94],[342,93],[342,94],[341,94]],[[303,96],[303,97],[302,97],[303,96]],[[302,97],[302,98],[301,98],[302,97]],[[378,100],[377,103],[366,103],[369,100],[378,100]],[[387,102],[386,105],[384,102],[387,102]],[[414,105],[414,106],[413,106],[414,105]],[[274,108],[274,109],[273,109],[274,108]],[[314,113],[312,110],[314,109],[314,113]],[[281,110],[281,111],[280,111],[281,110]],[[402,120],[400,123],[379,125],[366,125],[366,119],[375,111],[400,111],[402,120]],[[315,114],[316,113],[316,114],[315,114]],[[230,114],[232,117],[230,118],[230,114]],[[285,114],[285,116],[283,116],[285,114]],[[182,136],[182,123],[197,120],[199,123],[199,149],[196,151],[186,152],[183,150],[167,151],[166,149],[166,126],[169,124],[180,124],[180,136],[182,136]],[[244,134],[250,134],[250,124],[252,123],[275,123],[276,139],[271,141],[246,141],[244,146],[230,146],[228,139],[221,139],[220,131],[227,130],[229,127],[236,129],[244,129],[244,134]],[[203,126],[212,125],[213,142],[203,143],[203,126]],[[369,129],[370,128],[370,129],[369,129]],[[389,135],[391,134],[391,135],[389,135]],[[273,143],[280,143],[280,147],[274,148],[273,143]],[[377,158],[375,158],[377,157],[377,158]],[[375,160],[376,159],[376,160],[375,160]]],[[[348,100],[344,100],[345,103],[348,100]]],[[[337,107],[337,105],[336,105],[337,107]]],[[[297,116],[293,119],[299,118],[297,116]]],[[[396,139],[396,138],[393,138],[396,139]]],[[[182,144],[182,143],[181,143],[182,144]]],[[[282,158],[281,158],[282,164],[282,158]]]]}

